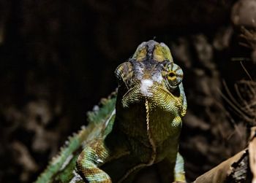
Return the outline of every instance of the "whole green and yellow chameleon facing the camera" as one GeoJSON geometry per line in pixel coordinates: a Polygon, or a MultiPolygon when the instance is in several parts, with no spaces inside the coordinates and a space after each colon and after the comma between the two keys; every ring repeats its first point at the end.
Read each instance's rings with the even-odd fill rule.
{"type": "Polygon", "coordinates": [[[115,75],[117,91],[94,106],[89,125],[69,138],[36,183],[133,182],[148,166],[157,167],[161,182],[186,182],[178,152],[184,74],[170,49],[142,42],[115,75]]]}

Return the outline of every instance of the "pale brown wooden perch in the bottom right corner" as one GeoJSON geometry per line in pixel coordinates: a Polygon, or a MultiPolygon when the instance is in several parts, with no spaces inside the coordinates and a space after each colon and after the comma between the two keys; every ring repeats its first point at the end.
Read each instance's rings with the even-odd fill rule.
{"type": "Polygon", "coordinates": [[[256,183],[256,127],[251,128],[249,145],[219,166],[197,177],[194,183],[252,182],[256,183]]]}

